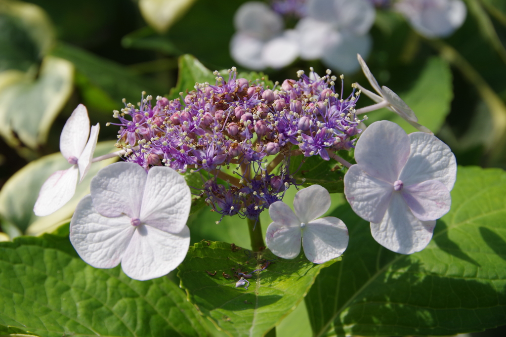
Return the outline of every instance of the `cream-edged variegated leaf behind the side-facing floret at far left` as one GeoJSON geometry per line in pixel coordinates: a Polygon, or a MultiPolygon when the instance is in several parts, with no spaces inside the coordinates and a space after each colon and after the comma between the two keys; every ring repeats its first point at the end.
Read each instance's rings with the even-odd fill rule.
{"type": "MultiPolygon", "coordinates": [[[[98,143],[95,157],[114,150],[117,150],[114,147],[114,141],[98,143]]],[[[37,217],[33,214],[33,205],[37,200],[40,187],[49,176],[58,170],[66,170],[70,164],[59,152],[34,160],[16,172],[0,190],[0,215],[21,231],[26,231],[31,235],[52,230],[62,221],[69,219],[79,200],[90,193],[90,181],[100,168],[115,160],[116,158],[111,158],[93,163],[85,179],[77,185],[73,198],[65,206],[46,217],[37,217]]]]}

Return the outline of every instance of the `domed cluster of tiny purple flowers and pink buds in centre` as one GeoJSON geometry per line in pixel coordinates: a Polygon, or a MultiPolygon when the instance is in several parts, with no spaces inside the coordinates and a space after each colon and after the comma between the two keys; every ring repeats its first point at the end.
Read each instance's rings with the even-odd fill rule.
{"type": "MultiPolygon", "coordinates": [[[[216,212],[258,220],[270,204],[297,185],[289,172],[293,155],[321,156],[353,147],[360,132],[354,114],[359,93],[343,99],[335,76],[298,72],[273,89],[264,79],[228,81],[215,72],[216,83],[196,83],[185,97],[151,96],[139,107],[114,111],[120,126],[118,144],[127,161],[149,170],[166,165],[180,173],[199,172],[205,195],[216,212]],[[355,96],[356,95],[356,96],[355,96]]],[[[298,170],[299,168],[296,168],[298,170]]],[[[293,171],[293,168],[292,168],[293,171]]],[[[223,217],[222,217],[223,218],[223,217]]]]}

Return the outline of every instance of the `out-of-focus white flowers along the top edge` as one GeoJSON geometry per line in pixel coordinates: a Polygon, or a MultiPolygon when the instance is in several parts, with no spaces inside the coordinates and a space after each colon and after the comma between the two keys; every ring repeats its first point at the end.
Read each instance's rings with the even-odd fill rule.
{"type": "Polygon", "coordinates": [[[241,66],[255,70],[282,68],[300,57],[353,73],[359,68],[356,55],[367,58],[371,51],[375,7],[401,13],[429,38],[452,34],[467,14],[461,0],[283,0],[272,8],[252,1],[235,13],[230,52],[241,66]],[[281,14],[300,20],[284,29],[281,14]]]}

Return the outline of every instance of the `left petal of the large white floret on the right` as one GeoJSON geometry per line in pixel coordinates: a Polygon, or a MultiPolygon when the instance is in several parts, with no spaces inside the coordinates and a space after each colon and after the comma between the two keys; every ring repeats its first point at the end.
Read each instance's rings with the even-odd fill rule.
{"type": "Polygon", "coordinates": [[[354,212],[364,220],[381,222],[394,191],[393,185],[368,175],[360,165],[350,167],[344,183],[346,199],[354,212]]]}

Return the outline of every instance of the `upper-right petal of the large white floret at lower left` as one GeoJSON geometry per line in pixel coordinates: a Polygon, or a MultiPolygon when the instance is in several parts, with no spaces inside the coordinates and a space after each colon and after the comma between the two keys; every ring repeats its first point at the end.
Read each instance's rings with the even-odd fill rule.
{"type": "Polygon", "coordinates": [[[139,219],[162,231],[179,233],[186,226],[190,207],[190,188],[183,176],[170,167],[151,167],[139,219]]]}

